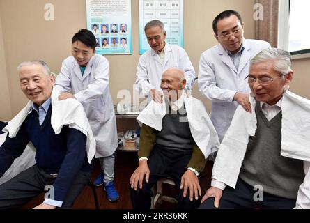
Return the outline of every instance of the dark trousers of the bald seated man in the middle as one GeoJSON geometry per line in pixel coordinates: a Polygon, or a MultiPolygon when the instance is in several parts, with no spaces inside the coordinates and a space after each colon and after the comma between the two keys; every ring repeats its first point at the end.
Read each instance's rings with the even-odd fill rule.
{"type": "MultiPolygon", "coordinates": [[[[187,171],[187,164],[192,157],[192,151],[179,151],[154,146],[150,153],[148,167],[150,169],[150,178],[146,183],[145,177],[142,184],[142,189],[137,191],[131,189],[132,206],[135,209],[150,209],[150,198],[153,196],[151,188],[160,178],[170,176],[173,178],[176,187],[180,188],[180,182],[183,174],[187,171]]],[[[180,190],[178,195],[178,208],[193,209],[198,208],[201,201],[189,200],[189,190],[187,197],[183,197],[183,190],[180,190]]]]}

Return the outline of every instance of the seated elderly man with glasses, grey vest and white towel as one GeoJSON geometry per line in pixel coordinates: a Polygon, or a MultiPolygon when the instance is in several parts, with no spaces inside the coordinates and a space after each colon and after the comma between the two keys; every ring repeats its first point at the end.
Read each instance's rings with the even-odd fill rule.
{"type": "Polygon", "coordinates": [[[236,109],[200,208],[310,208],[310,101],[288,91],[290,66],[283,49],[251,59],[253,112],[236,109]]]}

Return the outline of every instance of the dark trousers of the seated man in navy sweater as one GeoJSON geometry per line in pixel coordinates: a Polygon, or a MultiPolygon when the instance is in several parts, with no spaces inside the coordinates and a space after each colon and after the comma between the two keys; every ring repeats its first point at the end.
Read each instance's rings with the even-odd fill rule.
{"type": "MultiPolygon", "coordinates": [[[[91,171],[79,171],[63,201],[61,208],[71,208],[77,196],[91,178],[91,171]]],[[[6,183],[0,185],[0,208],[21,208],[38,194],[45,186],[53,185],[56,178],[46,174],[37,165],[29,167],[6,183]]]]}

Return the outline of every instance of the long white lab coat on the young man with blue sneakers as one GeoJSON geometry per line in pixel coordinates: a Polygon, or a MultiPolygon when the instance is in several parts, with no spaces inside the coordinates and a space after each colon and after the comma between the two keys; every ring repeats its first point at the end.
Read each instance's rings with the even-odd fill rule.
{"type": "Polygon", "coordinates": [[[96,141],[95,157],[112,155],[117,146],[116,118],[109,92],[109,62],[95,54],[82,76],[73,56],[63,61],[54,88],[71,92],[82,103],[96,141]]]}

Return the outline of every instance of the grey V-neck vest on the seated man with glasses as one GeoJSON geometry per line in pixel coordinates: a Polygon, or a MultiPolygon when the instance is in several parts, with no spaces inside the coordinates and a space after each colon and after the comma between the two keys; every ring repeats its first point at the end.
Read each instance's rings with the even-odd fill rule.
{"type": "Polygon", "coordinates": [[[282,112],[268,121],[256,102],[257,129],[250,137],[240,178],[251,186],[263,186],[263,192],[296,199],[304,180],[303,162],[280,155],[282,112]]]}

